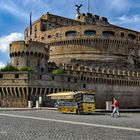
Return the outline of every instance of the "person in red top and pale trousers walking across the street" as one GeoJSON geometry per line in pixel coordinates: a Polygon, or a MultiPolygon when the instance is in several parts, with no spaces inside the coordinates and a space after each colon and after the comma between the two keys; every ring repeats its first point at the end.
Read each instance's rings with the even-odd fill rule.
{"type": "Polygon", "coordinates": [[[115,113],[117,113],[117,116],[119,117],[120,116],[119,103],[116,98],[113,99],[113,106],[114,106],[114,109],[113,109],[113,112],[111,113],[111,117],[113,117],[115,113]]]}

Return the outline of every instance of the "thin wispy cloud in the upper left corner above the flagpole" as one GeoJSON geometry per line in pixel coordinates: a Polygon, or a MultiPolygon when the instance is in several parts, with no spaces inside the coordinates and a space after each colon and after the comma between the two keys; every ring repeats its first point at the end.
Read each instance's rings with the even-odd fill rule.
{"type": "Polygon", "coordinates": [[[0,11],[8,12],[9,14],[23,21],[29,20],[29,13],[33,12],[34,18],[39,16],[39,13],[46,10],[48,5],[43,0],[6,0],[0,1],[0,11]],[[38,10],[37,10],[38,9],[38,10]],[[39,11],[39,12],[38,12],[39,11]]]}

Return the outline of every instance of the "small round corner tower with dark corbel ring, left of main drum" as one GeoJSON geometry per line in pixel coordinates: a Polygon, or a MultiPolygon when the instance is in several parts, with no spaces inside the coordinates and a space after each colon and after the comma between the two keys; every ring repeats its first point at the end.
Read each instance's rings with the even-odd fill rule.
{"type": "Polygon", "coordinates": [[[35,72],[47,72],[48,49],[44,43],[14,41],[10,44],[11,65],[31,68],[35,72]]]}

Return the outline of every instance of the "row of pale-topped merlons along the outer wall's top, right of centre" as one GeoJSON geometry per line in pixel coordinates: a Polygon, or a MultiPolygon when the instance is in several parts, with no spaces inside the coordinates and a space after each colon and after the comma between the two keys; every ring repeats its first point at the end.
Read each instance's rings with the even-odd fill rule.
{"type": "Polygon", "coordinates": [[[139,71],[128,71],[120,69],[109,69],[104,67],[88,67],[82,65],[66,65],[63,64],[63,69],[67,71],[68,74],[74,74],[74,72],[81,72],[84,76],[89,76],[89,74],[97,77],[111,77],[114,79],[126,79],[126,80],[140,80],[139,71]]]}

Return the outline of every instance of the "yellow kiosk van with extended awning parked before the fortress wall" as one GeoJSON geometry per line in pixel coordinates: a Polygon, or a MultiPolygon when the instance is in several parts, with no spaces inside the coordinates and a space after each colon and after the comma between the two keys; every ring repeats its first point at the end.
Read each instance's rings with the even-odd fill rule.
{"type": "Polygon", "coordinates": [[[91,114],[95,112],[95,91],[68,91],[48,95],[55,99],[59,112],[91,114]]]}

